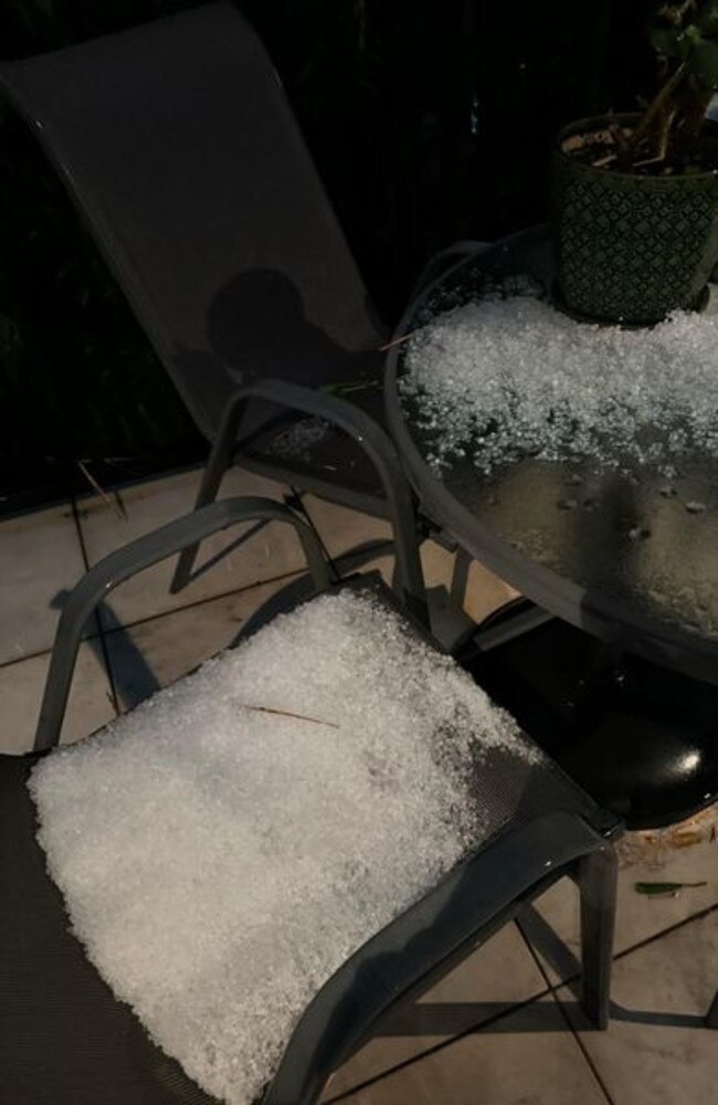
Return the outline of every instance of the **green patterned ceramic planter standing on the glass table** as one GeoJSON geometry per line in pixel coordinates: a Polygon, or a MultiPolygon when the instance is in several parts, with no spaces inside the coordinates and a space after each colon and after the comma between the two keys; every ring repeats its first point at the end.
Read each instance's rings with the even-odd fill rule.
{"type": "Polygon", "coordinates": [[[641,177],[582,165],[562,151],[570,136],[606,124],[605,117],[572,123],[553,150],[557,291],[574,314],[650,325],[701,298],[718,260],[718,172],[641,177]]]}

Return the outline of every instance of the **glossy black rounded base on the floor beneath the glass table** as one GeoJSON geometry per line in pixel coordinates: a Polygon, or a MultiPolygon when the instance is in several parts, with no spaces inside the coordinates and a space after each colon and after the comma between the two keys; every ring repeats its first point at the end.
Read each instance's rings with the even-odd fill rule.
{"type": "MultiPolygon", "coordinates": [[[[509,603],[482,629],[526,607],[509,603]]],[[[457,659],[629,829],[682,821],[718,798],[718,687],[617,654],[559,619],[457,659]]]]}

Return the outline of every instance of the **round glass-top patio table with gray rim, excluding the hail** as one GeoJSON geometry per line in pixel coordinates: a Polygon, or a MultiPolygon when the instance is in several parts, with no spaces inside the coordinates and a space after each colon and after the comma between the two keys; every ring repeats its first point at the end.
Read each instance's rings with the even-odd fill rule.
{"type": "MultiPolygon", "coordinates": [[[[518,276],[550,298],[543,228],[445,270],[410,305],[395,339],[451,307],[500,295],[518,276]]],[[[450,454],[440,469],[441,421],[426,428],[421,400],[402,393],[410,344],[395,340],[389,351],[387,417],[425,514],[543,610],[718,684],[718,456],[694,448],[669,480],[638,462],[612,467],[595,457],[531,455],[486,474],[475,448],[450,454]]]]}

